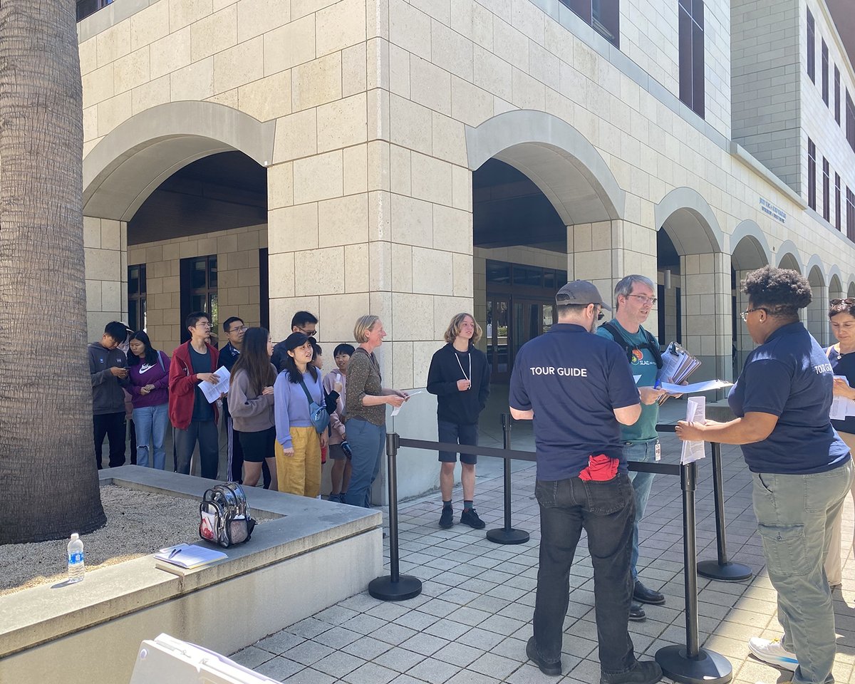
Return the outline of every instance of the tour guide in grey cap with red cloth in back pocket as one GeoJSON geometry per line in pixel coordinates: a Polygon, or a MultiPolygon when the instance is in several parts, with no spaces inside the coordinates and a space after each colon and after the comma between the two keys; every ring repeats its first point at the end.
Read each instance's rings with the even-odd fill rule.
{"type": "Polygon", "coordinates": [[[653,661],[635,659],[627,630],[632,582],[635,498],[623,457],[620,425],[641,414],[627,356],[593,333],[610,310],[586,280],[556,296],[558,322],[522,346],[510,378],[510,413],[534,420],[540,504],[540,567],[534,636],[526,654],[545,675],[561,674],[569,573],[581,531],[587,531],[603,684],[652,684],[653,661]]]}

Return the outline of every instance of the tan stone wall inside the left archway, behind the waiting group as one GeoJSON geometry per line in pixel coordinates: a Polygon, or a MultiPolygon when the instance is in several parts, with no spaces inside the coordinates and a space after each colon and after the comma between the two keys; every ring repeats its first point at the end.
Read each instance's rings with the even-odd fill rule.
{"type": "MultiPolygon", "coordinates": [[[[217,256],[217,301],[220,326],[239,316],[248,327],[259,325],[258,251],[267,246],[267,227],[234,228],[186,238],[131,245],[128,262],[146,265],[148,333],[157,349],[171,354],[180,344],[180,262],[187,257],[217,256]]],[[[126,269],[127,271],[127,269],[126,269]]],[[[126,287],[127,291],[127,287],[126,287]]]]}

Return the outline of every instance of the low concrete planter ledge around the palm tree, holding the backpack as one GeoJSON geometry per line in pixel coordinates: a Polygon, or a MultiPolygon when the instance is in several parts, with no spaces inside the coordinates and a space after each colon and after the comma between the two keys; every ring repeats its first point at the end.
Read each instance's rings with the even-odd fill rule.
{"type": "MultiPolygon", "coordinates": [[[[136,466],[102,471],[101,480],[197,499],[210,485],[136,466]]],[[[161,632],[234,652],[380,575],[379,511],[256,488],[247,498],[267,520],[219,563],[178,576],[145,556],[93,570],[78,585],[0,598],[0,681],[128,681],[139,642],[161,632]],[[346,572],[323,581],[330,569],[346,572]]]]}

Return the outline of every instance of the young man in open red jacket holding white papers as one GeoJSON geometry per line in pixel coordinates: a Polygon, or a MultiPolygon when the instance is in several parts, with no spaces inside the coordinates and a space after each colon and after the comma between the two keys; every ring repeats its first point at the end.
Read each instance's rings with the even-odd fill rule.
{"type": "Polygon", "coordinates": [[[178,472],[190,475],[190,458],[199,443],[202,476],[216,480],[220,460],[217,437],[217,410],[205,398],[199,385],[215,385],[220,378],[214,373],[219,353],[209,345],[211,324],[208,314],[195,311],[185,320],[190,339],[172,352],[169,366],[169,420],[175,428],[178,472]]]}

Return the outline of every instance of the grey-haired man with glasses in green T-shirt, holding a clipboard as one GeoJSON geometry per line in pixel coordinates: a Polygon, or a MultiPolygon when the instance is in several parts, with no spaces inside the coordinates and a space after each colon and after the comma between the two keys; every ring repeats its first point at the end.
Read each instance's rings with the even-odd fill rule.
{"type": "MultiPolygon", "coordinates": [[[[615,286],[615,317],[601,325],[597,334],[623,347],[632,374],[638,375],[636,385],[641,398],[641,417],[633,425],[621,427],[623,457],[628,461],[658,461],[660,457],[656,424],[659,421],[659,398],[664,394],[656,389],[662,356],[659,343],[641,326],[656,304],[656,288],[644,275],[631,274],[615,286]]],[[[640,604],[663,604],[663,593],[648,589],[639,580],[639,522],[644,517],[647,498],[653,484],[653,473],[629,473],[635,492],[635,520],[633,522],[633,552],[630,566],[633,575],[634,603],[629,609],[629,619],[646,618],[640,604]]]]}

